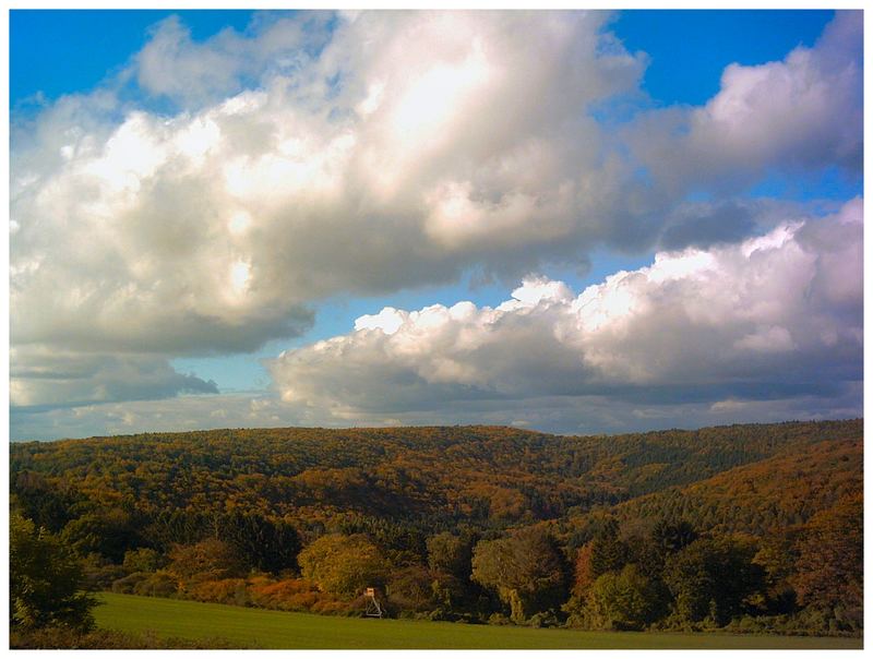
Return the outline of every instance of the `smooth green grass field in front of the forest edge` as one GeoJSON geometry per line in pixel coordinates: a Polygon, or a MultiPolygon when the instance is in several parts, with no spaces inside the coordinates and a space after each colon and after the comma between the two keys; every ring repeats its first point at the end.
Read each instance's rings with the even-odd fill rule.
{"type": "Polygon", "coordinates": [[[802,649],[861,648],[860,638],[732,636],[535,630],[405,620],[332,618],[203,604],[133,595],[101,594],[95,610],[100,627],[154,631],[181,638],[220,637],[240,647],[272,649],[364,648],[629,648],[802,649]]]}

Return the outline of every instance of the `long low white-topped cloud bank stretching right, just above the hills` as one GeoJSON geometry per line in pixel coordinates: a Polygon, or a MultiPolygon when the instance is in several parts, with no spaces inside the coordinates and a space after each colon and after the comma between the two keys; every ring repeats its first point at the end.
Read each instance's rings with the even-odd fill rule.
{"type": "Polygon", "coordinates": [[[284,400],[340,416],[548,396],[837,398],[862,378],[861,233],[854,200],[740,243],[658,253],[578,296],[528,278],[495,308],[387,308],[268,368],[284,400]]]}

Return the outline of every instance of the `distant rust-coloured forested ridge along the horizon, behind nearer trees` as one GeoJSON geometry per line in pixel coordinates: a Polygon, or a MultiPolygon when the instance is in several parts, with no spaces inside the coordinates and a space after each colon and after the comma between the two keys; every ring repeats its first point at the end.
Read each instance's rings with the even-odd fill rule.
{"type": "MultiPolygon", "coordinates": [[[[789,422],[582,438],[501,427],[139,434],[14,443],[11,482],[21,495],[45,484],[80,508],[115,502],[148,515],[240,507],[304,527],[342,513],[504,526],[805,455],[818,442],[860,442],[862,427],[861,420],[789,422]]],[[[829,469],[860,474],[860,462],[829,469]]],[[[58,529],[64,516],[39,522],[58,529]]]]}

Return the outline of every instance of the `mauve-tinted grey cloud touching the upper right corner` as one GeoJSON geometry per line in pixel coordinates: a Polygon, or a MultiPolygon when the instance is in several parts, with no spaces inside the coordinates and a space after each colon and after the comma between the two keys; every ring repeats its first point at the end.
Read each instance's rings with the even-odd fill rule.
{"type": "Polygon", "coordinates": [[[634,153],[672,189],[736,189],[767,170],[863,158],[863,13],[838,12],[812,48],[782,61],[731,64],[704,107],[654,112],[631,129],[634,153]]]}

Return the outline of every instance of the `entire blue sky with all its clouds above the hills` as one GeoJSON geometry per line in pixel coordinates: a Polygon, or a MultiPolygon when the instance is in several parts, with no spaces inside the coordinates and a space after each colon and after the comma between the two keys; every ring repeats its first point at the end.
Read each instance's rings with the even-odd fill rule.
{"type": "Polygon", "coordinates": [[[862,41],[12,10],[11,439],[860,417],[862,41]]]}

